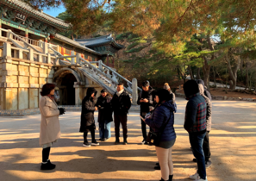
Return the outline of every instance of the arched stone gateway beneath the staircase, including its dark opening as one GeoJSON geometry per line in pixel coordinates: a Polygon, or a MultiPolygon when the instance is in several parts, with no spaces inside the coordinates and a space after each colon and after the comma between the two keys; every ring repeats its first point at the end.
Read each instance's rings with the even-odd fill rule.
{"type": "Polygon", "coordinates": [[[85,78],[78,69],[59,67],[53,74],[53,83],[59,89],[60,105],[80,105],[84,98],[85,78]]]}

